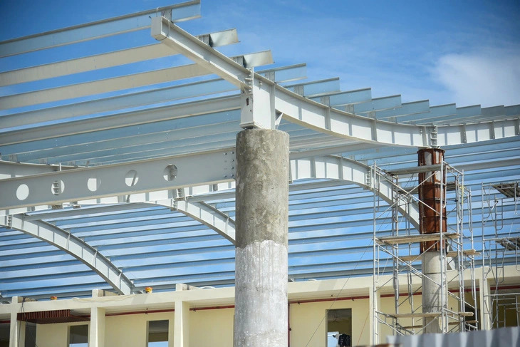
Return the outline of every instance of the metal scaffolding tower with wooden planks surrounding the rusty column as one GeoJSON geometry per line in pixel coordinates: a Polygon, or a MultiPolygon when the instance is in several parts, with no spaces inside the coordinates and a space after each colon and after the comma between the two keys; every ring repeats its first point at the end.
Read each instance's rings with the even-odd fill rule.
{"type": "MultiPolygon", "coordinates": [[[[447,209],[447,230],[437,234],[419,234],[397,212],[409,208],[412,202],[423,204],[417,197],[417,191],[425,180],[419,182],[417,173],[421,167],[400,170],[394,174],[383,172],[373,165],[373,185],[380,180],[392,182],[393,204],[383,204],[374,197],[373,212],[373,343],[380,343],[380,336],[415,335],[423,333],[422,323],[425,317],[440,316],[442,332],[469,331],[477,329],[477,287],[475,285],[475,256],[472,231],[472,193],[464,187],[464,175],[459,170],[442,162],[435,170],[445,172],[446,182],[442,182],[447,191],[444,204],[447,209]],[[404,175],[403,175],[404,174],[404,175]],[[383,235],[378,229],[391,220],[391,234],[383,235]],[[443,240],[446,246],[443,249],[443,240]],[[417,296],[422,291],[422,279],[427,278],[421,271],[419,242],[439,241],[441,254],[441,278],[436,282],[442,292],[442,310],[438,313],[423,313],[421,301],[417,296]],[[444,264],[444,266],[443,266],[444,264]],[[392,284],[393,292],[388,286],[392,284]],[[404,283],[401,283],[404,282],[404,283]],[[382,306],[380,298],[393,297],[394,307],[382,306]],[[386,330],[385,330],[386,329],[386,330]]],[[[431,168],[430,168],[431,170],[431,168]]],[[[425,170],[422,170],[423,172],[425,170]]],[[[442,219],[442,213],[439,218],[442,219]]],[[[430,279],[431,281],[431,279],[430,279]]]]}

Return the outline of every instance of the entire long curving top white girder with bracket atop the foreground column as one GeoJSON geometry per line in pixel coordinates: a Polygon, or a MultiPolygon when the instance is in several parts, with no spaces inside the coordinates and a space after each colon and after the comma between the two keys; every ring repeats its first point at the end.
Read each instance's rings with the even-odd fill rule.
{"type": "Polygon", "coordinates": [[[385,122],[343,112],[303,98],[252,73],[165,18],[152,19],[152,36],[208,71],[241,88],[241,127],[274,128],[276,118],[322,133],[382,145],[431,147],[519,135],[515,120],[427,127],[385,122]]]}

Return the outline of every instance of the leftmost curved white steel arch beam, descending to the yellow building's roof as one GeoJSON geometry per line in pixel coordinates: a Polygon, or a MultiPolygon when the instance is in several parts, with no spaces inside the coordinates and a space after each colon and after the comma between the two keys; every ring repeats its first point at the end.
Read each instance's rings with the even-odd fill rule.
{"type": "Polygon", "coordinates": [[[120,294],[130,294],[133,284],[123,271],[100,254],[89,244],[55,225],[41,221],[25,220],[23,215],[0,217],[0,224],[9,229],[16,229],[71,254],[74,258],[93,269],[120,294]]]}

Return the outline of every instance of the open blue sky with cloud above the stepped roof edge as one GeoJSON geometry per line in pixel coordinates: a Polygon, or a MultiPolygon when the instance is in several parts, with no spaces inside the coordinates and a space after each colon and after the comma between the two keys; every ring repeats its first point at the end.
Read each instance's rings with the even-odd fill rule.
{"type": "MultiPolygon", "coordinates": [[[[175,2],[0,0],[0,40],[175,2]]],[[[519,0],[202,0],[202,19],[180,26],[236,28],[227,55],[271,49],[276,66],[305,62],[308,78],[338,76],[343,90],[486,107],[520,103],[519,15],[519,0]]]]}

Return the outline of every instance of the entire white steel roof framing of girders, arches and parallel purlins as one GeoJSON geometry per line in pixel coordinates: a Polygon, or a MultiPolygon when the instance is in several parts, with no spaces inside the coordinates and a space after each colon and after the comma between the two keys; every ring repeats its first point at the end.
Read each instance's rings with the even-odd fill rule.
{"type": "MultiPolygon", "coordinates": [[[[197,16],[199,1],[188,1],[0,43],[0,56],[108,36],[123,46],[0,73],[15,90],[0,98],[1,295],[233,284],[241,127],[290,135],[289,274],[297,280],[372,273],[373,194],[382,210],[396,202],[385,172],[417,165],[417,147],[442,146],[477,198],[481,182],[520,180],[520,105],[373,98],[370,88],[340,90],[338,78],[298,81],[305,64],[256,71],[272,63],[269,51],[229,58],[214,49],[236,42],[234,29],[192,36],[172,23],[197,16]],[[117,36],[147,28],[152,35],[135,46],[117,36]],[[194,63],[180,65],[178,53],[194,63]],[[378,185],[369,179],[374,164],[378,185]]],[[[397,223],[414,229],[417,206],[404,206],[397,223]]],[[[481,204],[473,206],[474,228],[492,232],[481,204]]],[[[520,224],[513,204],[503,212],[505,223],[520,224]]],[[[391,220],[378,220],[378,234],[390,233],[391,220]]]]}

